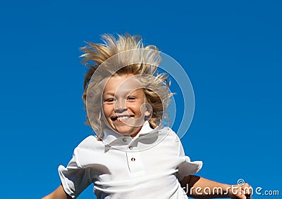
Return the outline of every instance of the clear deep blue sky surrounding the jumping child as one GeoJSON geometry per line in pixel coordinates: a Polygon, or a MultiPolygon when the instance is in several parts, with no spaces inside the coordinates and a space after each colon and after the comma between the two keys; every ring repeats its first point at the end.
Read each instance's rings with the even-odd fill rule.
{"type": "MultiPolygon", "coordinates": [[[[92,134],[83,124],[86,68],[79,47],[100,42],[100,34],[124,32],[141,34],[190,77],[195,115],[181,140],[192,160],[204,162],[199,175],[228,184],[245,179],[281,193],[281,6],[280,1],[2,2],[1,198],[40,198],[59,186],[57,167],[92,134]]],[[[92,196],[90,187],[80,198],[92,196]]]]}

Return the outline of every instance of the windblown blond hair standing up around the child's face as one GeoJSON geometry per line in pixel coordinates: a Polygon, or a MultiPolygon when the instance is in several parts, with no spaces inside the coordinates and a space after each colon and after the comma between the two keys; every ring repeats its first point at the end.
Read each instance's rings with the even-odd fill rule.
{"type": "Polygon", "coordinates": [[[161,56],[156,46],[144,46],[142,38],[137,35],[103,34],[104,44],[87,42],[80,50],[82,63],[89,69],[85,73],[82,99],[87,110],[87,124],[98,136],[105,127],[102,122],[102,86],[104,79],[116,75],[137,75],[145,92],[146,102],[152,106],[152,115],[148,122],[152,128],[167,118],[170,82],[168,75],[157,71],[161,56]],[[90,100],[91,99],[91,100],[90,100]]]}

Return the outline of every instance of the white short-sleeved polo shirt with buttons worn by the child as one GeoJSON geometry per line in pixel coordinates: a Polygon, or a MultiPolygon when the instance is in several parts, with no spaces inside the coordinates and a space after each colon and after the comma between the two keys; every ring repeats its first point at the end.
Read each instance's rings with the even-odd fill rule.
{"type": "Polygon", "coordinates": [[[188,198],[178,179],[195,174],[202,161],[184,155],[169,127],[152,129],[145,122],[134,138],[106,129],[103,141],[88,136],[59,166],[63,188],[72,198],[94,183],[97,198],[188,198]]]}

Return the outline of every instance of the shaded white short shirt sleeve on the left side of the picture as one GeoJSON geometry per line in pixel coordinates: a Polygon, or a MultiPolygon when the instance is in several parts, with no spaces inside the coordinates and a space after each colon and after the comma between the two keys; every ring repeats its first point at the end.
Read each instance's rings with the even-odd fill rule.
{"type": "Polygon", "coordinates": [[[87,186],[92,184],[90,167],[82,168],[80,166],[77,148],[75,148],[73,158],[68,162],[68,166],[60,165],[58,172],[63,189],[71,198],[77,198],[87,186]]]}

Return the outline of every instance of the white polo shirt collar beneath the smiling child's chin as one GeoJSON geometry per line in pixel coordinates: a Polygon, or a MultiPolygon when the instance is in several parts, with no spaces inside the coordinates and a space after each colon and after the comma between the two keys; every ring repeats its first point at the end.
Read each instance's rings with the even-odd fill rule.
{"type": "Polygon", "coordinates": [[[118,134],[116,131],[113,131],[111,129],[104,129],[104,134],[101,137],[102,137],[102,141],[104,141],[104,143],[106,145],[120,145],[121,142],[119,142],[119,140],[123,141],[123,143],[128,143],[128,142],[133,141],[135,139],[149,138],[150,136],[147,136],[147,135],[155,134],[155,133],[158,133],[158,132],[159,132],[159,127],[152,129],[149,126],[149,122],[145,121],[145,123],[143,124],[139,133],[133,138],[130,137],[130,136],[123,136],[121,134],[118,134]]]}

